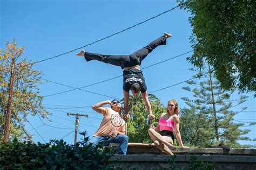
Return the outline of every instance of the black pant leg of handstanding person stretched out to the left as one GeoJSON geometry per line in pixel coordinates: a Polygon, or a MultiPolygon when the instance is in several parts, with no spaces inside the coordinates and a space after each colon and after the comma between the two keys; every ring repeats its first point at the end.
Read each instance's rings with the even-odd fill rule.
{"type": "Polygon", "coordinates": [[[86,61],[98,60],[115,66],[121,66],[122,62],[129,61],[129,55],[105,55],[89,52],[84,53],[84,58],[86,61]]]}

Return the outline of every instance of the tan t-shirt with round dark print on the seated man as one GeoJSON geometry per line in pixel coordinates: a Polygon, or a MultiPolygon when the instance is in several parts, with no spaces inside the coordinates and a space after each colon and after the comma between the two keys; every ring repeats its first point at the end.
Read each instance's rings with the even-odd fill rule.
{"type": "Polygon", "coordinates": [[[125,132],[125,122],[116,111],[104,108],[103,116],[102,123],[93,136],[109,136],[114,130],[125,132]]]}

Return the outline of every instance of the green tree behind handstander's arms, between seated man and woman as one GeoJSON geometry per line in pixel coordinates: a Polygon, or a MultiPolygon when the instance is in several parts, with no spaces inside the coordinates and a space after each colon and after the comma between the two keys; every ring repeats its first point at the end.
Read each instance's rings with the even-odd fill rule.
{"type": "Polygon", "coordinates": [[[148,117],[148,113],[143,102],[142,95],[139,93],[137,96],[130,95],[129,100],[129,114],[131,118],[127,121],[127,135],[129,142],[149,143],[150,136],[147,132],[149,126],[153,123],[155,126],[159,120],[159,116],[166,111],[164,105],[153,94],[149,94],[149,101],[151,109],[156,119],[152,122],[148,117]]]}

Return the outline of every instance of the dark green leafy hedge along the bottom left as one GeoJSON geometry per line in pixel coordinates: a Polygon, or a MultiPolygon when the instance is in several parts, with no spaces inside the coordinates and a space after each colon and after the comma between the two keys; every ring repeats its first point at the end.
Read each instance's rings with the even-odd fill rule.
{"type": "MultiPolygon", "coordinates": [[[[82,133],[85,136],[85,133],[82,133]]],[[[116,169],[109,164],[113,148],[99,144],[85,146],[88,137],[76,145],[63,140],[46,144],[20,143],[17,139],[0,144],[0,169],[116,169]]]]}

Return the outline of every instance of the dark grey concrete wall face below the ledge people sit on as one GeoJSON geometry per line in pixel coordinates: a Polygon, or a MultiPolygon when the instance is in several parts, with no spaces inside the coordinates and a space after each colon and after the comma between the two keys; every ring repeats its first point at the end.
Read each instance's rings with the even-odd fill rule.
{"type": "MultiPolygon", "coordinates": [[[[215,162],[214,169],[256,169],[256,157],[247,155],[194,155],[197,161],[215,162]]],[[[191,168],[192,155],[176,155],[174,167],[191,168]]],[[[123,169],[170,169],[172,155],[114,155],[110,161],[123,169]]]]}

